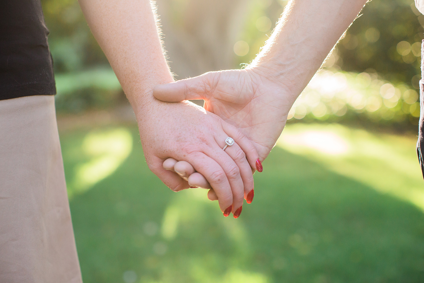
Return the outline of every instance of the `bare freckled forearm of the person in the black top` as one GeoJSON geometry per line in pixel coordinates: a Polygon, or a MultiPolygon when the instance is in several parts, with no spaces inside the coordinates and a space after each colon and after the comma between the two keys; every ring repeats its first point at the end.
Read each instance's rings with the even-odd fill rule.
{"type": "Polygon", "coordinates": [[[89,27],[106,54],[128,100],[151,104],[151,90],[172,82],[149,0],[79,0],[89,27]]]}

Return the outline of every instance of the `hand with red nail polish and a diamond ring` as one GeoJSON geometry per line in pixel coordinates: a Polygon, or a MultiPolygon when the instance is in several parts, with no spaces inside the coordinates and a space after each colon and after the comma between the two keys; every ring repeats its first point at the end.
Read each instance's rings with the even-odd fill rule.
{"type": "Polygon", "coordinates": [[[206,177],[224,215],[236,213],[254,187],[251,166],[259,156],[250,140],[217,115],[189,101],[153,101],[136,114],[147,164],[165,185],[173,191],[190,187],[186,180],[162,167],[168,157],[187,160],[206,177]],[[223,151],[227,137],[235,142],[223,151]]]}

